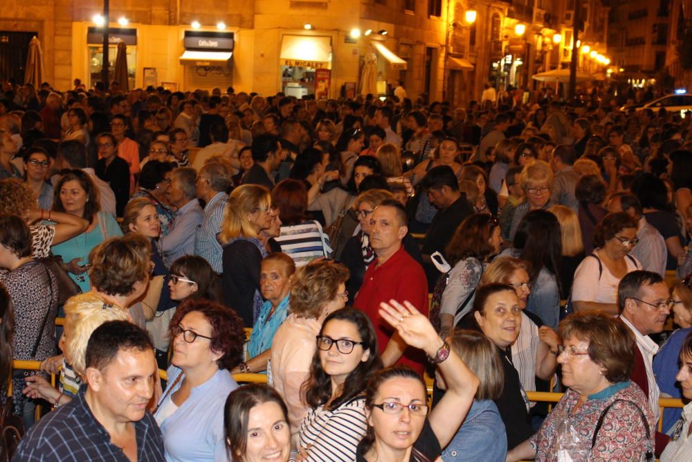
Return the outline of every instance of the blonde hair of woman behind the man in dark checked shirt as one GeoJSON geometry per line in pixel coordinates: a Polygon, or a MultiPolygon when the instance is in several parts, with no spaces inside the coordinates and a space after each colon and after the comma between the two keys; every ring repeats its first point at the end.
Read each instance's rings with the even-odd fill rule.
{"type": "Polygon", "coordinates": [[[91,333],[106,321],[128,321],[129,316],[119,306],[109,305],[94,292],[86,292],[69,298],[64,305],[65,322],[71,335],[63,348],[71,357],[70,366],[79,375],[86,370],[86,344],[91,333]]]}

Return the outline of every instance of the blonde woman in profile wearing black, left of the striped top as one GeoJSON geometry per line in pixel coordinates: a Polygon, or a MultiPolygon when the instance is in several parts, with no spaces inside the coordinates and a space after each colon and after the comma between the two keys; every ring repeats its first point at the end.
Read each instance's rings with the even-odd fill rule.
{"type": "Polygon", "coordinates": [[[230,193],[219,236],[224,244],[224,301],[252,327],[262,308],[260,272],[267,251],[258,236],[271,224],[269,190],[257,184],[238,186],[230,193]]]}

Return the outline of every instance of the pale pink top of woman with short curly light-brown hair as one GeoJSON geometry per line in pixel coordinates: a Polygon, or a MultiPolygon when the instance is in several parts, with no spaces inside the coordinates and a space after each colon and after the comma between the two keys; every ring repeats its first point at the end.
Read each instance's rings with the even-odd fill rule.
{"type": "Polygon", "coordinates": [[[321,323],[289,314],[274,335],[271,344],[271,385],[279,392],[289,409],[291,438],[298,442],[298,430],[307,411],[312,409],[302,400],[300,386],[310,375],[315,355],[316,338],[321,323]]]}

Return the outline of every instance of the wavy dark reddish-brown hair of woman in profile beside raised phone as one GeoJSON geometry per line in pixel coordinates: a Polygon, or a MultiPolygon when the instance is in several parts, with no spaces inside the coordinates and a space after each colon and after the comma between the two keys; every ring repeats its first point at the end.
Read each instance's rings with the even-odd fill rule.
{"type": "Polygon", "coordinates": [[[485,260],[493,253],[489,239],[500,226],[488,213],[474,213],[457,226],[446,248],[447,261],[454,266],[466,258],[485,260]]]}

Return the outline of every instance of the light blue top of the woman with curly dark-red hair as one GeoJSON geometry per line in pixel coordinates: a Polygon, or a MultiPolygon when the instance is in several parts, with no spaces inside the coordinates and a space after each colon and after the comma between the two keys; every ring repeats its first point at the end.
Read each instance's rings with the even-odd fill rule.
{"type": "MultiPolygon", "coordinates": [[[[183,373],[176,366],[168,368],[168,383],[174,384],[183,373]]],[[[166,390],[158,403],[170,400],[182,380],[166,390]]],[[[227,462],[224,435],[224,405],[228,393],[238,388],[229,371],[217,371],[212,377],[190,390],[190,396],[176,411],[161,423],[163,443],[168,462],[227,462]]],[[[156,413],[158,414],[158,412],[156,413]]],[[[154,414],[154,417],[156,417],[154,414]]]]}

